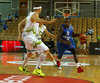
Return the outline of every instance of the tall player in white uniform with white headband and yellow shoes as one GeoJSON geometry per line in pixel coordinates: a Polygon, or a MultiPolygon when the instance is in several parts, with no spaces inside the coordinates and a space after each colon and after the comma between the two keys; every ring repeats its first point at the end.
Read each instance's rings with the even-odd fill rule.
{"type": "Polygon", "coordinates": [[[49,49],[43,42],[36,38],[36,34],[38,33],[39,23],[51,24],[55,22],[57,19],[51,21],[40,19],[39,15],[42,10],[41,5],[35,5],[33,9],[34,12],[30,12],[30,14],[18,24],[18,40],[21,37],[21,31],[23,29],[23,26],[25,27],[22,33],[22,40],[25,43],[27,49],[27,57],[24,59],[23,65],[19,67],[19,70],[24,72],[25,74],[29,73],[27,71],[27,68],[25,67],[25,64],[28,61],[28,57],[31,57],[33,55],[33,50],[36,50],[40,54],[40,56],[38,59],[37,66],[33,71],[33,74],[45,77],[45,74],[41,71],[41,64],[43,63],[46,55],[48,54],[49,49]]]}

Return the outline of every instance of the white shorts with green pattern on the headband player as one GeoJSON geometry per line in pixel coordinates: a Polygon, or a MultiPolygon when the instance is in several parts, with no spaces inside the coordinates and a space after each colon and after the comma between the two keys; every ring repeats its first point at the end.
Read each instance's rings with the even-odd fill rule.
{"type": "Polygon", "coordinates": [[[33,36],[22,36],[22,40],[25,43],[27,50],[35,50],[38,54],[49,49],[41,40],[38,40],[33,36]]]}

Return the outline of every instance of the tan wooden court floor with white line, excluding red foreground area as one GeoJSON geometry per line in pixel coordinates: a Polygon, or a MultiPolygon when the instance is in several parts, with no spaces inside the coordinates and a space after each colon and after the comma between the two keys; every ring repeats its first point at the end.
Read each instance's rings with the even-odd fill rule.
{"type": "MultiPolygon", "coordinates": [[[[18,70],[22,64],[23,53],[0,53],[0,74],[16,74],[24,75],[18,70]]],[[[64,55],[61,60],[62,70],[54,68],[52,62],[47,57],[42,65],[42,71],[47,76],[67,77],[91,81],[93,83],[100,83],[100,56],[99,55],[78,55],[79,62],[84,69],[83,73],[77,73],[73,57],[71,55],[64,55]]],[[[35,59],[29,59],[28,70],[29,75],[32,75],[35,69],[38,56],[35,59]]],[[[67,83],[67,82],[66,82],[67,83]]]]}

